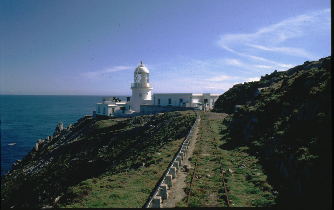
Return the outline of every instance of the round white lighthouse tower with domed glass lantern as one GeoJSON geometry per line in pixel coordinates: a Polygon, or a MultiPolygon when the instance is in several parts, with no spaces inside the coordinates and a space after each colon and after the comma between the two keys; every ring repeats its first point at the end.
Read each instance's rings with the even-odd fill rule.
{"type": "Polygon", "coordinates": [[[140,105],[152,104],[152,84],[149,83],[149,70],[141,61],[134,72],[134,83],[131,84],[132,99],[131,109],[140,112],[140,105]]]}

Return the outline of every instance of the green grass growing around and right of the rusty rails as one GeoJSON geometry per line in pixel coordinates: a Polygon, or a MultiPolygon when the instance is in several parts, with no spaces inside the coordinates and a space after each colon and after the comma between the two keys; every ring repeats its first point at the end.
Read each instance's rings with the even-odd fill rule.
{"type": "MultiPolygon", "coordinates": [[[[224,149],[225,133],[223,119],[208,119],[205,112],[200,112],[202,123],[202,146],[201,154],[211,154],[211,156],[200,156],[197,163],[197,175],[201,175],[201,179],[195,179],[189,200],[189,207],[203,207],[208,205],[226,207],[226,195],[222,186],[221,173],[219,167],[218,156],[224,173],[226,187],[228,188],[228,196],[230,204],[233,207],[269,207],[275,204],[276,197],[271,194],[273,188],[266,181],[267,176],[258,163],[258,158],[249,154],[249,147],[239,146],[234,149],[224,149]],[[210,125],[210,126],[209,126],[210,125]],[[210,130],[212,128],[213,133],[210,130]],[[214,139],[217,143],[217,149],[214,147],[214,139]],[[234,161],[231,161],[234,159],[234,161]],[[240,164],[244,164],[246,168],[238,168],[240,164]],[[209,171],[208,171],[209,169],[209,171]],[[227,172],[228,169],[233,170],[233,174],[227,172]],[[258,175],[258,173],[260,173],[258,175]],[[205,175],[210,174],[210,178],[205,175]],[[200,183],[201,182],[201,183],[200,183]],[[214,199],[208,195],[214,194],[214,199]],[[270,196],[269,196],[270,195],[270,196]]],[[[225,120],[226,121],[226,120],[225,120]]],[[[194,154],[197,154],[200,143],[196,142],[194,154]]],[[[192,164],[196,162],[196,157],[191,159],[192,164]]],[[[186,182],[190,183],[188,175],[186,182]]],[[[185,188],[185,192],[189,192],[189,186],[185,188]]],[[[186,199],[177,204],[177,207],[184,206],[186,199]]]]}

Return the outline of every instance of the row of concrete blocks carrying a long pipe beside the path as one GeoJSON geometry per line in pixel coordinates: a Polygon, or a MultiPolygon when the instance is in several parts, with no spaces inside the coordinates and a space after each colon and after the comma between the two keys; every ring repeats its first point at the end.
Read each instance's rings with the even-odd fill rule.
{"type": "Polygon", "coordinates": [[[192,126],[189,134],[187,135],[186,140],[183,142],[181,151],[179,152],[178,156],[176,157],[173,166],[169,169],[168,174],[165,176],[163,184],[160,185],[157,195],[155,195],[152,199],[151,208],[161,208],[162,200],[168,199],[168,188],[173,187],[173,179],[176,178],[176,173],[180,171],[180,166],[182,166],[182,161],[184,160],[187,150],[190,145],[191,138],[193,136],[195,126],[197,124],[197,113],[196,113],[196,120],[194,125],[192,126]]]}

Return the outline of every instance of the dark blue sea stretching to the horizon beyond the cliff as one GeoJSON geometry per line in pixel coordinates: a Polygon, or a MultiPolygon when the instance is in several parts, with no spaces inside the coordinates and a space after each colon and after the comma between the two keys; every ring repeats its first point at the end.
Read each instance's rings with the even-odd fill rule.
{"type": "Polygon", "coordinates": [[[0,95],[1,176],[15,161],[22,160],[38,139],[54,133],[59,122],[64,128],[85,115],[92,115],[102,97],[127,95],[0,95]]]}

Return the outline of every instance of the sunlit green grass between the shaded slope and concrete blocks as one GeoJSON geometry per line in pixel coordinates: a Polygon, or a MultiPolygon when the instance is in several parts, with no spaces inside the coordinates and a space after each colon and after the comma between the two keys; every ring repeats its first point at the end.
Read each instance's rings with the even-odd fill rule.
{"type": "MultiPolygon", "coordinates": [[[[191,122],[187,118],[182,116],[179,122],[191,126],[191,122]]],[[[190,116],[191,117],[191,116],[190,116]]],[[[192,116],[193,117],[193,116],[192,116]]],[[[166,118],[167,119],[167,118],[166,118]]],[[[193,119],[193,118],[192,118],[193,119]]],[[[140,122],[140,121],[137,121],[140,122]]],[[[102,123],[101,123],[102,125],[102,123]]],[[[101,127],[101,125],[99,125],[101,127]]],[[[175,130],[165,123],[164,127],[159,129],[159,132],[155,133],[155,136],[164,138],[161,133],[168,135],[170,132],[175,130]]],[[[110,126],[110,125],[109,125],[110,126]]],[[[179,124],[178,126],[181,126],[179,124]]],[[[108,126],[105,126],[108,127],[108,126]]],[[[103,127],[102,127],[103,128],[103,127]]],[[[146,132],[147,135],[151,135],[151,132],[146,132]]],[[[149,139],[153,138],[153,136],[149,139]]],[[[145,147],[146,143],[141,143],[139,148],[134,148],[131,153],[136,154],[134,159],[133,155],[129,155],[123,162],[116,166],[113,172],[102,174],[97,179],[87,180],[81,182],[79,185],[70,189],[68,194],[74,192],[76,189],[80,189],[83,186],[87,186],[90,194],[78,202],[70,203],[65,202],[63,205],[58,207],[65,208],[140,208],[144,205],[148,199],[151,191],[156,185],[157,181],[163,175],[170,161],[174,158],[176,151],[178,151],[183,139],[167,139],[167,142],[163,144],[151,144],[150,148],[145,147]],[[152,147],[153,146],[153,147],[152,147]],[[149,151],[149,152],[147,152],[149,151]],[[158,155],[160,153],[161,155],[158,155]],[[145,166],[139,166],[132,168],[133,164],[138,163],[145,166]],[[115,173],[117,171],[118,173],[115,173]]],[[[115,149],[115,147],[113,147],[115,149]]],[[[108,156],[109,152],[106,151],[105,155],[108,156]]]]}

